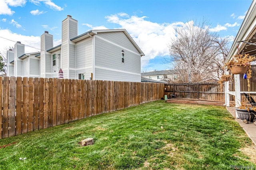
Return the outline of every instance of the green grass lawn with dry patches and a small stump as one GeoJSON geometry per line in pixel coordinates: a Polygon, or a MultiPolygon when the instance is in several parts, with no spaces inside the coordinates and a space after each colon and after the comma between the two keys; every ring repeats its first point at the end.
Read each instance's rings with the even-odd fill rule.
{"type": "Polygon", "coordinates": [[[1,139],[0,169],[256,168],[253,147],[225,107],[155,101],[1,139]]]}

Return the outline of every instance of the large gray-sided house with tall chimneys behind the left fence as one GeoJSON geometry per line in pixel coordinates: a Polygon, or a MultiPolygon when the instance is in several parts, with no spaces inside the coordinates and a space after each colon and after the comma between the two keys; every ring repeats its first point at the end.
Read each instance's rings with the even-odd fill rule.
{"type": "Polygon", "coordinates": [[[46,31],[40,52],[26,54],[17,42],[8,53],[14,54],[8,60],[8,76],[58,78],[62,69],[66,79],[134,82],[141,81],[140,57],[144,56],[125,29],[90,30],[78,36],[78,21],[69,15],[62,21],[60,45],[53,47],[53,36],[46,31]],[[33,67],[39,71],[30,73],[33,67]]]}

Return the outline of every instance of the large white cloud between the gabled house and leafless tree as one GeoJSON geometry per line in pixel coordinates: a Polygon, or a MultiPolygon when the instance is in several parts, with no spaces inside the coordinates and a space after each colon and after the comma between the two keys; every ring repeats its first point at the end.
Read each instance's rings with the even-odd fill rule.
{"type": "Polygon", "coordinates": [[[182,22],[159,24],[146,20],[146,16],[129,16],[125,13],[106,16],[108,22],[125,28],[138,44],[145,56],[141,58],[141,67],[145,67],[150,59],[156,56],[169,55],[168,43],[175,36],[174,27],[182,22]]]}

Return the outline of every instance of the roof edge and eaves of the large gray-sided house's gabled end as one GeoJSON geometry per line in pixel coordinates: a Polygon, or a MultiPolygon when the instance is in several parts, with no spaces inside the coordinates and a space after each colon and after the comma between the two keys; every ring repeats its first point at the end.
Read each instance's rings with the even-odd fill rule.
{"type": "Polygon", "coordinates": [[[136,47],[136,49],[140,52],[140,56],[144,56],[145,54],[142,52],[142,50],[140,49],[140,47],[136,44],[136,42],[134,42],[134,40],[132,39],[132,37],[130,36],[130,34],[128,34],[128,32],[125,29],[114,29],[114,30],[90,30],[88,32],[85,32],[84,34],[81,34],[79,36],[76,36],[75,38],[70,39],[70,41],[72,42],[79,42],[81,40],[84,40],[86,38],[89,38],[91,36],[94,36],[100,32],[124,32],[124,34],[128,37],[128,39],[132,42],[132,44],[134,45],[134,47],[136,47]]]}

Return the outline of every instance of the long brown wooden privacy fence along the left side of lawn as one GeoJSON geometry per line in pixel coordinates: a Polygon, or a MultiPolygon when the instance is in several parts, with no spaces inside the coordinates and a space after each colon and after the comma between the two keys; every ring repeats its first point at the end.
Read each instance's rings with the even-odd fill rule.
{"type": "Polygon", "coordinates": [[[162,83],[0,77],[0,138],[156,101],[163,96],[162,83]]]}

